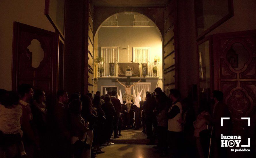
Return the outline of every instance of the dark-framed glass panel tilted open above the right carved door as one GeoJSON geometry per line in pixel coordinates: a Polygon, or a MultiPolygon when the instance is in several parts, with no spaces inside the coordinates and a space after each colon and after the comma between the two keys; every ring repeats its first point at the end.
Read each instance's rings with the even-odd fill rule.
{"type": "Polygon", "coordinates": [[[233,0],[194,0],[197,39],[234,15],[233,0]]]}

